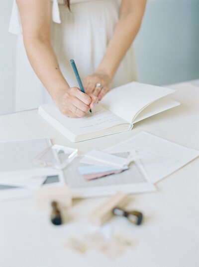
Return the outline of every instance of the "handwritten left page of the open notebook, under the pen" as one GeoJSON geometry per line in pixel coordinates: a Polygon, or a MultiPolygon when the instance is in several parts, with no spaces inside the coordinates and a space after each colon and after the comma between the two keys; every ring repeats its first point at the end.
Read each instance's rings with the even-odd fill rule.
{"type": "Polygon", "coordinates": [[[106,110],[99,104],[96,105],[92,113],[87,113],[83,118],[69,118],[63,115],[54,104],[42,105],[39,114],[45,112],[45,119],[55,127],[55,122],[59,122],[65,129],[76,136],[82,134],[95,133],[127,122],[106,110]],[[48,118],[47,118],[48,116],[48,118]],[[51,120],[52,118],[52,120],[51,120]]]}

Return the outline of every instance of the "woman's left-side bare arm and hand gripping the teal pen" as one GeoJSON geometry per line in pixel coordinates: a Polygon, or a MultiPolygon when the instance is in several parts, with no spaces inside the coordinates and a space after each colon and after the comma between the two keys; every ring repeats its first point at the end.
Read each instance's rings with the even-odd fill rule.
{"type": "Polygon", "coordinates": [[[77,87],[70,88],[59,69],[50,41],[50,1],[17,0],[17,4],[31,66],[61,112],[70,117],[83,117],[98,99],[82,93],[77,87]]]}

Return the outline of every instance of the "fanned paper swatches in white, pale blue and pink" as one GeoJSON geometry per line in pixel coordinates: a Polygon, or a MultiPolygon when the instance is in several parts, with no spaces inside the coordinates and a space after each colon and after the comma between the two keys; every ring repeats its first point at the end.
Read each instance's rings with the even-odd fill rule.
{"type": "Polygon", "coordinates": [[[80,163],[84,163],[84,165],[79,166],[78,170],[86,180],[93,180],[127,170],[129,163],[134,158],[135,155],[132,156],[130,152],[126,152],[126,155],[123,153],[122,157],[121,155],[92,150],[82,158],[80,163]]]}

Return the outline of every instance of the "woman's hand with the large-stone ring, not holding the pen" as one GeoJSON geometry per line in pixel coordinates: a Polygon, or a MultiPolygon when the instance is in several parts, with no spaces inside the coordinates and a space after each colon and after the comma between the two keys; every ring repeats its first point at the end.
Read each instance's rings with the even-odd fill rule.
{"type": "Polygon", "coordinates": [[[107,74],[96,71],[88,75],[84,80],[84,88],[87,94],[92,93],[101,100],[110,90],[110,78],[107,74]]]}

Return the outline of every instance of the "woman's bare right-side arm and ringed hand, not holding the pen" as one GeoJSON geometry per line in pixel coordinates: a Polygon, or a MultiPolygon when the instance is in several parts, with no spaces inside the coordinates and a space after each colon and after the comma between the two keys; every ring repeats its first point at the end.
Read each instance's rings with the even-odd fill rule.
{"type": "Polygon", "coordinates": [[[145,6],[146,0],[122,0],[121,2],[119,21],[100,66],[95,73],[87,76],[84,82],[87,92],[94,93],[99,99],[109,90],[110,82],[120,62],[140,29],[145,6]],[[101,84],[101,90],[95,88],[96,83],[101,84]]]}

